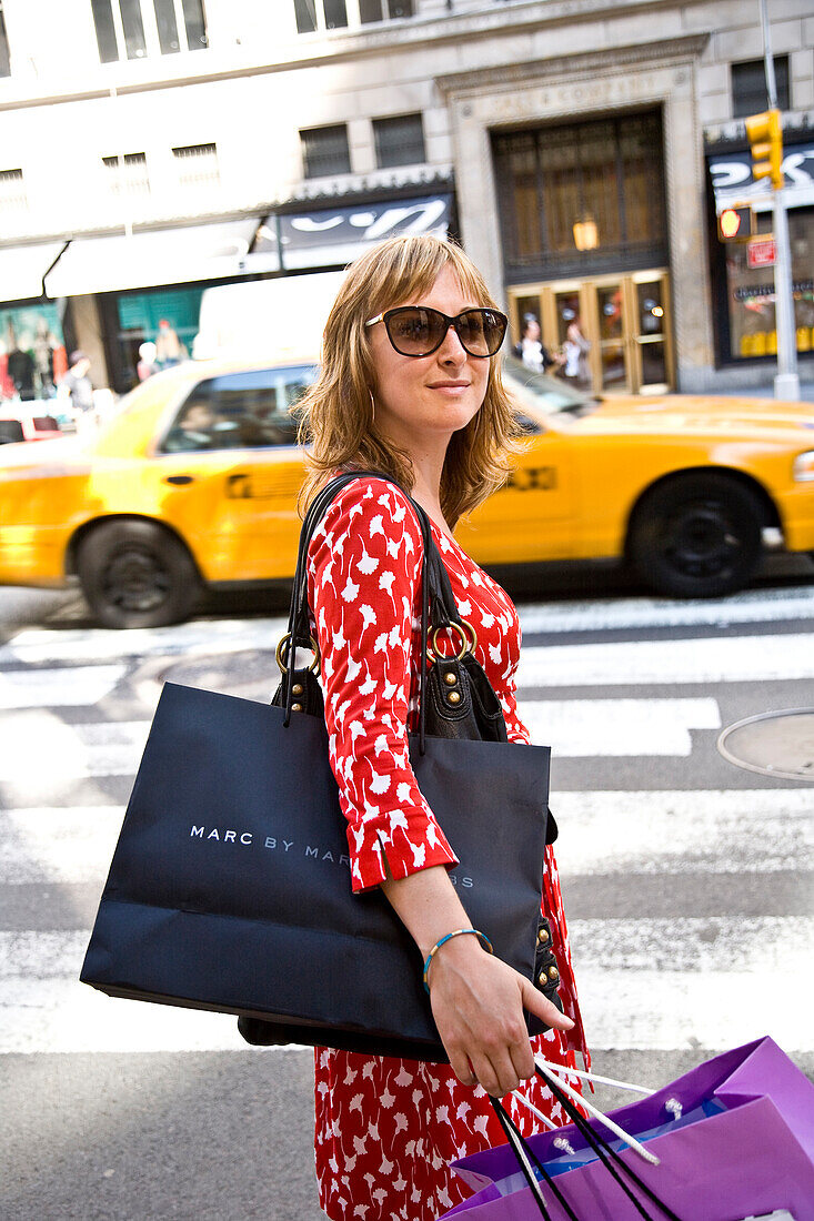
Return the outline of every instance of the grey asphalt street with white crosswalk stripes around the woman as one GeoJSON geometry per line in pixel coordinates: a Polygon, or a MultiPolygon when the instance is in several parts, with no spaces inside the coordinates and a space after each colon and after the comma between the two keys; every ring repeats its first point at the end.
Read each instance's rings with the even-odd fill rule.
{"type": "MultiPolygon", "coordinates": [[[[518,681],[554,745],[596,1070],[655,1087],[770,1033],[814,1076],[814,786],[716,750],[735,720],[814,705],[814,574],[706,603],[570,581],[515,591],[518,681]]],[[[0,591],[4,1221],[321,1216],[309,1051],[77,983],[161,681],[266,698],[280,629],[260,603],[101,631],[75,593],[0,591]]]]}

